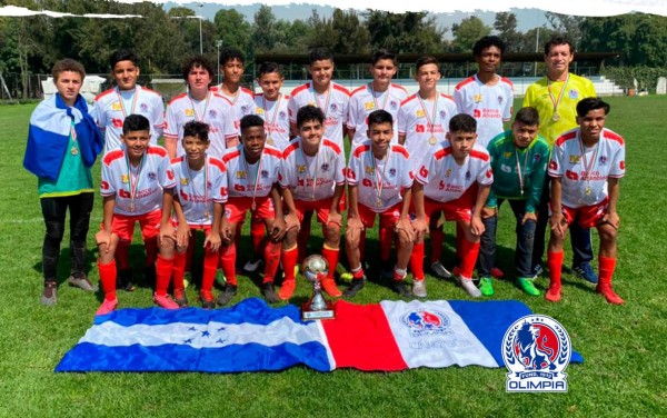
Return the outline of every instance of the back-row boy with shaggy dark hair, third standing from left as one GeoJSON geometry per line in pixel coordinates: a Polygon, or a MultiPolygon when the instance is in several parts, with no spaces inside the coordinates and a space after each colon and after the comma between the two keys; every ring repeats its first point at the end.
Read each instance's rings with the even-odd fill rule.
{"type": "Polygon", "coordinates": [[[231,102],[209,91],[213,67],[206,57],[189,57],[181,70],[189,92],[175,97],[167,107],[165,148],[169,158],[175,159],[183,153],[183,126],[191,120],[209,126],[211,146],[208,153],[221,158],[228,143],[232,147],[238,143],[238,119],[235,118],[231,102]]]}

